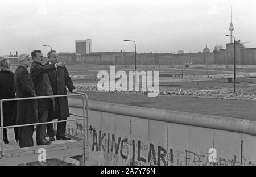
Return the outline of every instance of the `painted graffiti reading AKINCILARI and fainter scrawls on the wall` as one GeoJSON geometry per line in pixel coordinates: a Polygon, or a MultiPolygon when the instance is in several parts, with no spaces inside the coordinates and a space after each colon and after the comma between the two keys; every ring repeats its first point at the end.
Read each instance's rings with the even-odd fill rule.
{"type": "MultiPolygon", "coordinates": [[[[192,150],[174,150],[153,143],[145,144],[142,140],[129,140],[115,134],[102,132],[90,126],[92,153],[112,154],[111,165],[151,165],[151,166],[239,166],[241,163],[236,155],[232,159],[217,157],[215,162],[209,161],[209,153],[198,154],[192,150]],[[142,153],[143,152],[143,153],[142,153]]],[[[246,165],[253,165],[249,162],[246,165]]]]}

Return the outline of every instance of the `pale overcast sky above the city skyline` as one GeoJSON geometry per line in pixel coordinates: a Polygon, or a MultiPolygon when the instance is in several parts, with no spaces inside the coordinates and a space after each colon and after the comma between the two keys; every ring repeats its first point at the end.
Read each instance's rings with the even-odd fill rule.
{"type": "Polygon", "coordinates": [[[253,0],[0,0],[0,54],[75,52],[75,40],[92,40],[92,52],[199,52],[229,43],[233,35],[256,48],[253,0]]]}

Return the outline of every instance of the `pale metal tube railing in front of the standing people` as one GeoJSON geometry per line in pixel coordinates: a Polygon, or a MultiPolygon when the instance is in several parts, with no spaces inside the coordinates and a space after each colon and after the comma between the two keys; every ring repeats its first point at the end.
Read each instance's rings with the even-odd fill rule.
{"type": "MultiPolygon", "coordinates": [[[[86,140],[88,140],[88,96],[82,92],[77,92],[76,94],[69,94],[69,95],[52,95],[52,96],[35,96],[35,97],[26,97],[26,98],[11,98],[11,99],[1,99],[0,100],[0,109],[1,109],[1,143],[2,143],[2,149],[1,149],[1,155],[5,155],[5,143],[3,141],[3,129],[4,128],[14,128],[14,127],[25,127],[30,125],[42,125],[42,124],[52,124],[52,123],[62,123],[67,121],[75,121],[75,120],[84,120],[84,127],[86,124],[86,137],[84,133],[84,164],[86,165],[86,140]],[[82,98],[82,118],[77,119],[69,119],[69,120],[60,120],[60,121],[49,121],[44,123],[34,123],[34,124],[21,124],[21,125],[11,125],[11,126],[3,126],[3,102],[10,102],[10,101],[17,101],[17,100],[29,100],[29,99],[44,99],[44,98],[60,98],[60,97],[68,97],[68,96],[81,96],[82,98]],[[86,101],[86,117],[85,117],[85,101],[86,101]],[[87,120],[87,123],[85,123],[85,119],[87,120]]],[[[71,114],[72,115],[72,114],[71,114]]],[[[78,116],[78,115],[76,115],[78,116]]]]}

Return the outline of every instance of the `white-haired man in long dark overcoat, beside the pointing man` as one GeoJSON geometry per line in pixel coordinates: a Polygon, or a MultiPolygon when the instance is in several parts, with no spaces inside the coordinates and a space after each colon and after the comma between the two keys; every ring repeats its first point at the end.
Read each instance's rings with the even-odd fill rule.
{"type": "MultiPolygon", "coordinates": [[[[18,57],[19,66],[14,73],[14,85],[16,88],[16,98],[33,97],[35,89],[33,81],[28,73],[27,68],[31,64],[28,54],[21,54],[18,57]]],[[[38,123],[38,104],[36,99],[18,100],[17,101],[17,117],[16,123],[34,124],[38,123]]],[[[33,132],[34,126],[19,127],[19,146],[34,146],[33,132]]]]}

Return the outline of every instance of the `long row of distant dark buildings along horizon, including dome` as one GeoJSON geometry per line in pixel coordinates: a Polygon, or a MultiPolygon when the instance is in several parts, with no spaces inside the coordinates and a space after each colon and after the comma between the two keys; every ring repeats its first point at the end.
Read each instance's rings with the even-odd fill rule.
{"type": "MultiPolygon", "coordinates": [[[[181,50],[182,51],[182,50],[181,50]]],[[[137,53],[137,65],[225,65],[234,64],[234,43],[216,45],[213,52],[208,47],[198,53],[137,53]]],[[[17,57],[9,57],[13,65],[18,65],[17,57]]],[[[60,52],[59,60],[68,65],[87,63],[96,65],[135,65],[134,52],[93,52],[90,54],[60,52]]],[[[48,61],[44,57],[44,63],[48,61]]],[[[236,41],[236,64],[256,65],[256,48],[245,48],[236,41]]]]}

